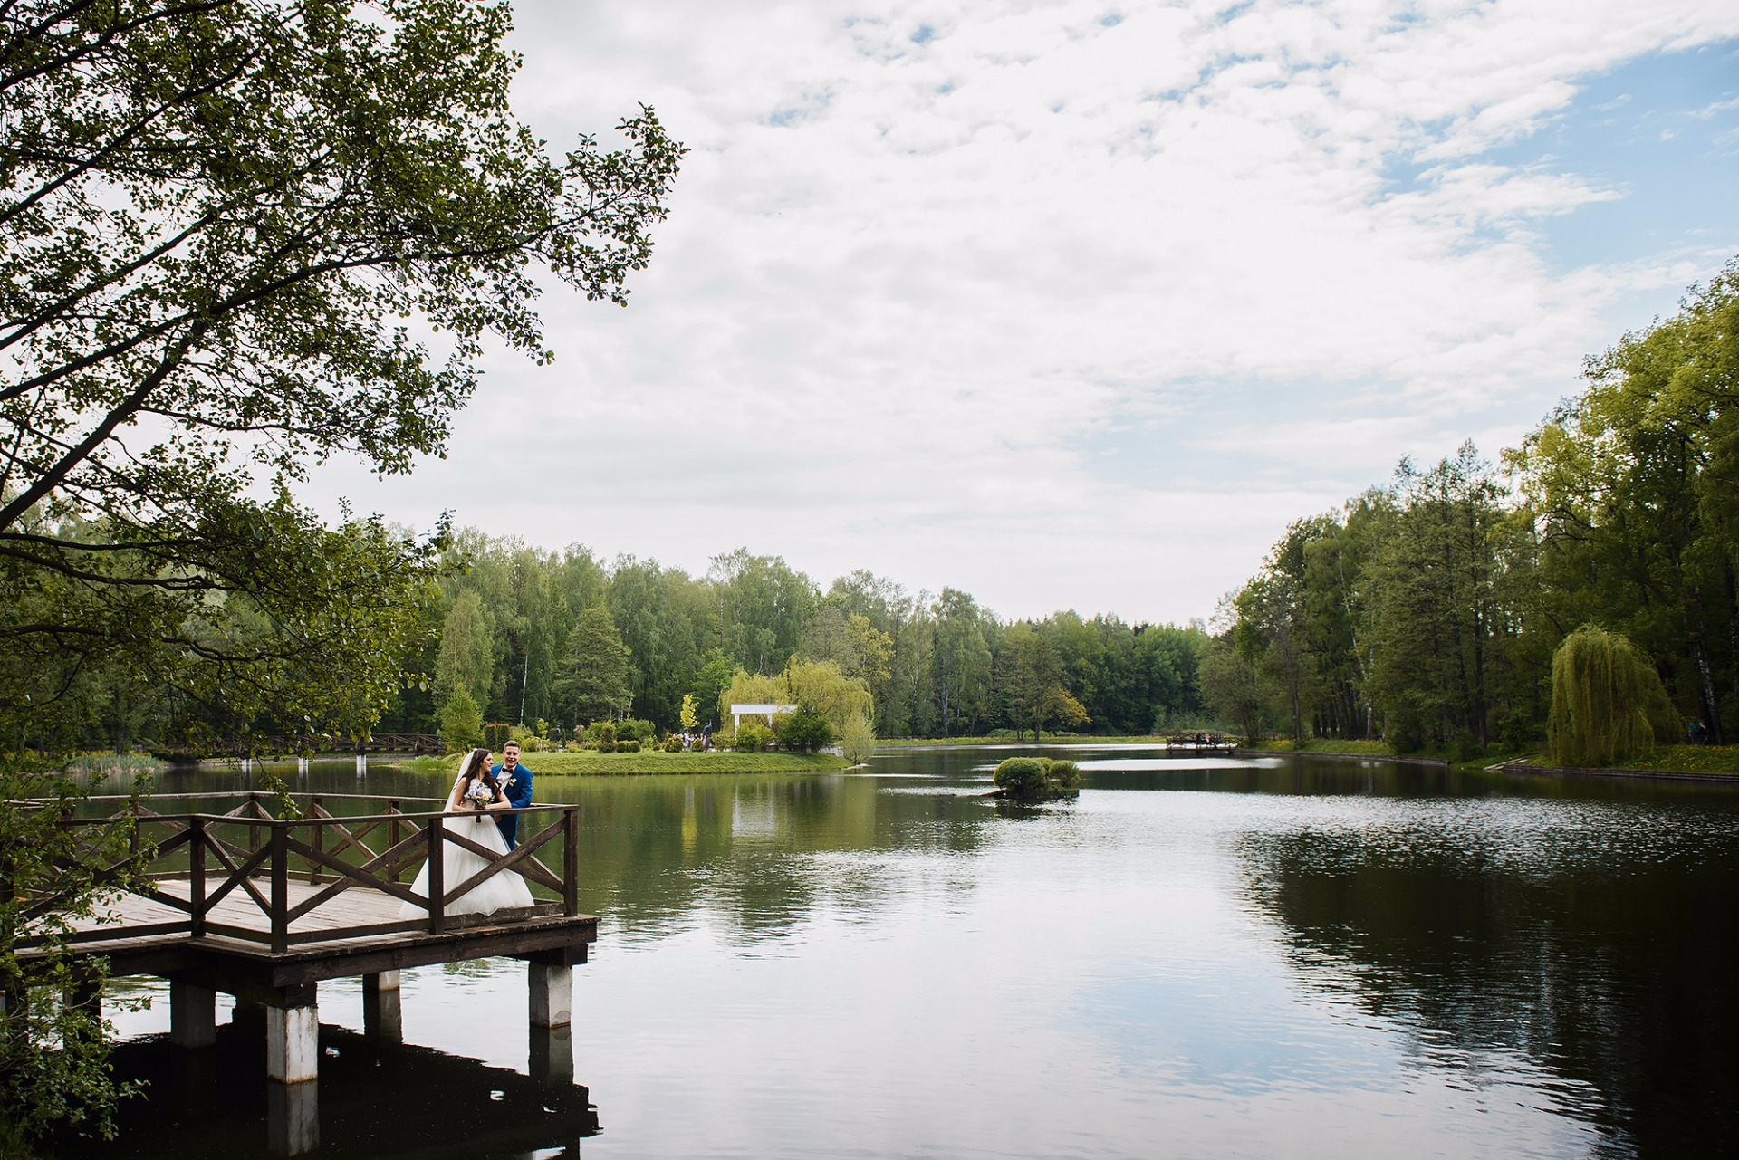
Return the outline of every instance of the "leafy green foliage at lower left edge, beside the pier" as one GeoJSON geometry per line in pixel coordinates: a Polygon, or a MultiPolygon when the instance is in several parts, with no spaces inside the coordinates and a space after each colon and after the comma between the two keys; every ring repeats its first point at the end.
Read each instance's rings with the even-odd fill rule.
{"type": "Polygon", "coordinates": [[[92,918],[110,885],[139,887],[127,857],[130,819],[70,830],[87,791],[17,757],[0,762],[0,1108],[14,1132],[42,1137],[56,1127],[111,1136],[117,1099],[130,1085],[113,1080],[101,1005],[61,1002],[101,993],[108,963],[70,955],[73,923],[92,918]],[[35,798],[35,802],[31,802],[35,798]],[[117,877],[106,875],[118,866],[117,877]],[[42,944],[21,948],[24,937],[42,944]],[[26,953],[28,951],[28,953],[26,953]]]}

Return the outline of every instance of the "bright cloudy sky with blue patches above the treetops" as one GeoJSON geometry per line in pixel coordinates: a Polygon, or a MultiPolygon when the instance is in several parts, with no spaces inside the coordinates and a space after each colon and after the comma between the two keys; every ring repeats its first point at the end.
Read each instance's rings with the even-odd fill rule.
{"type": "Polygon", "coordinates": [[[515,12],[553,150],[642,101],[690,148],[652,266],[323,510],[1181,623],[1739,254],[1732,0],[515,12]]]}

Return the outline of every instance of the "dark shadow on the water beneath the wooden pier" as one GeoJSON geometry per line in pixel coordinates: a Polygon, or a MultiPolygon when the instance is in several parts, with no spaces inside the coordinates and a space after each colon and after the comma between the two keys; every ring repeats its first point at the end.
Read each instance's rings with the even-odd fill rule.
{"type": "MultiPolygon", "coordinates": [[[[563,1030],[565,1031],[565,1030],[563,1030]]],[[[224,1024],[214,1047],[188,1052],[153,1035],[117,1045],[115,1075],[150,1089],[125,1101],[118,1136],[63,1139],[63,1160],[247,1160],[282,1155],[285,1117],[318,1117],[320,1157],[457,1160],[579,1157],[598,1134],[588,1092],[556,1070],[522,1075],[336,1026],[320,1028],[320,1083],[285,1089],[259,1071],[264,1026],[224,1024]],[[315,1089],[318,1087],[318,1092],[315,1089]],[[287,1108],[304,1090],[315,1108],[287,1108]]],[[[534,1071],[536,1071],[534,1061],[534,1071]]]]}

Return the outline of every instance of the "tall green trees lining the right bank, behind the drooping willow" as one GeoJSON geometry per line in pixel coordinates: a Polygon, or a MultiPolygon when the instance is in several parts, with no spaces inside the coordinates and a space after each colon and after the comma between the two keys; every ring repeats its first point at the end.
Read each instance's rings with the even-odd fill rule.
{"type": "Polygon", "coordinates": [[[1586,393],[1497,466],[1471,443],[1403,461],[1389,487],[1292,523],[1221,603],[1203,689],[1252,734],[1523,748],[1544,734],[1553,652],[1595,624],[1652,659],[1685,732],[1729,741],[1736,572],[1739,261],[1591,358],[1586,393]]]}

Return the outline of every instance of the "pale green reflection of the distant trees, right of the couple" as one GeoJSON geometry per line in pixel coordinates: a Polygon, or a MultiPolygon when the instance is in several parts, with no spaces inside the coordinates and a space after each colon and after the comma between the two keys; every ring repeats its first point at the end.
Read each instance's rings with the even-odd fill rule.
{"type": "Polygon", "coordinates": [[[586,807],[583,908],[616,930],[704,911],[748,941],[779,937],[821,904],[887,904],[890,854],[972,850],[986,821],[970,798],[878,793],[868,777],[647,777],[563,798],[586,807]]]}

